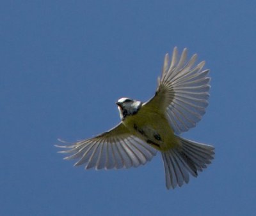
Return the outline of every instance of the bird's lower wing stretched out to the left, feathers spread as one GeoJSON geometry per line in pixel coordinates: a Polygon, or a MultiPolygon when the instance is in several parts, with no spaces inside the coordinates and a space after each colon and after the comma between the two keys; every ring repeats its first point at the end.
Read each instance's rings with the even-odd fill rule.
{"type": "Polygon", "coordinates": [[[95,136],[92,139],[78,141],[60,153],[71,154],[64,159],[79,159],[74,166],[85,164],[86,169],[120,169],[137,167],[150,161],[157,150],[132,135],[122,124],[95,136]]]}

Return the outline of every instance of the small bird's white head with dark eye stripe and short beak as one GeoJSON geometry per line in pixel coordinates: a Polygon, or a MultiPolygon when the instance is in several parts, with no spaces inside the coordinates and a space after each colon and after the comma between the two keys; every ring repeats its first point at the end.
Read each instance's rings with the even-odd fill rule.
{"type": "Polygon", "coordinates": [[[141,108],[142,102],[122,97],[116,102],[122,120],[129,115],[135,115],[141,108]]]}

